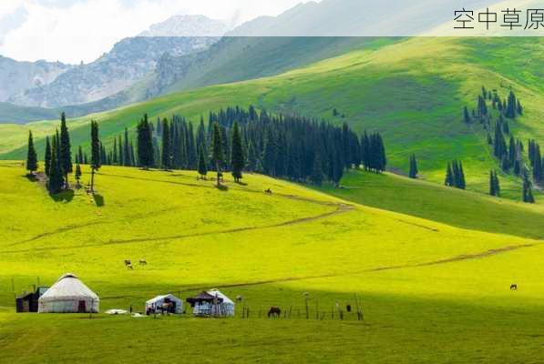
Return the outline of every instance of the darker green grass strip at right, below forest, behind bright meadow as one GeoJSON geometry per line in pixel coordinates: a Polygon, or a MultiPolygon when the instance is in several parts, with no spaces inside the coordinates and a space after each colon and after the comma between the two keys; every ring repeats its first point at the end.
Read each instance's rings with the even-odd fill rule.
{"type": "MultiPolygon", "coordinates": [[[[440,186],[391,173],[349,171],[341,188],[323,192],[365,206],[382,208],[468,229],[544,238],[544,207],[440,186]]],[[[504,191],[503,191],[504,192],[504,191]]],[[[540,201],[541,202],[541,198],[540,201]]]]}

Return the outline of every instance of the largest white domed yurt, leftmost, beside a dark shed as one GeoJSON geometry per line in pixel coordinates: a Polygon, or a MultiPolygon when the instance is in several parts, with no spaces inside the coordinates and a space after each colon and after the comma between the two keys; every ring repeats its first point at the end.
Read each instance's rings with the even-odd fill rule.
{"type": "Polygon", "coordinates": [[[38,299],[40,313],[98,313],[100,298],[73,274],[65,274],[38,299]]]}

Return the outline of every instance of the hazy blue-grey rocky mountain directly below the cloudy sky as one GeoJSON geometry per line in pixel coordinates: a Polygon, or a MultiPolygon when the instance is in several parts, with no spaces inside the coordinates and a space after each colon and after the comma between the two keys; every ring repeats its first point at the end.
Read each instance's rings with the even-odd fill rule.
{"type": "Polygon", "coordinates": [[[94,102],[117,94],[149,75],[165,54],[183,56],[205,49],[227,30],[221,21],[205,16],[174,16],[139,36],[121,40],[96,61],[71,67],[51,82],[26,89],[6,101],[18,106],[39,107],[94,102]],[[202,36],[187,36],[191,34],[190,29],[202,36]]]}

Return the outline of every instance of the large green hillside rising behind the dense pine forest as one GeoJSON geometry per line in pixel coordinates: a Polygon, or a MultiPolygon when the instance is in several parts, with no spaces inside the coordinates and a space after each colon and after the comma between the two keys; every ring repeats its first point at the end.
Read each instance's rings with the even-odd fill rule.
{"type": "MultiPolygon", "coordinates": [[[[110,136],[125,126],[133,127],[145,112],[152,117],[181,113],[195,120],[221,106],[255,104],[325,117],[334,123],[346,121],[357,131],[378,129],[385,136],[391,167],[405,171],[409,154],[416,153],[422,175],[433,182],[442,182],[447,161],[461,158],[468,187],[486,191],[488,170],[497,167],[486,143],[487,133],[480,126],[466,126],[461,116],[463,106],[474,105],[482,85],[497,88],[501,96],[509,87],[515,89],[526,108],[525,116],[511,123],[516,136],[544,139],[539,122],[544,116],[542,86],[534,76],[539,75],[539,63],[524,61],[528,53],[539,59],[544,41],[496,39],[413,38],[354,51],[281,76],[159,97],[75,120],[74,144],[87,145],[91,117],[102,123],[102,136],[110,142],[110,136]],[[508,69],[511,59],[514,66],[508,69]],[[332,119],[333,107],[346,118],[332,119]]],[[[56,123],[39,125],[52,130],[56,123]]],[[[0,157],[24,157],[25,148],[17,146],[24,145],[25,136],[15,137],[2,129],[0,133],[9,136],[1,150],[13,149],[0,157]]],[[[505,176],[502,184],[505,197],[518,199],[519,180],[505,176]]]]}

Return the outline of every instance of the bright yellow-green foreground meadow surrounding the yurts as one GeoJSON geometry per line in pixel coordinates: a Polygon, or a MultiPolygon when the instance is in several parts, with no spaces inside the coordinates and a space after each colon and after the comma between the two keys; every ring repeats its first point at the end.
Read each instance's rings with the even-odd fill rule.
{"type": "Polygon", "coordinates": [[[193,172],[103,167],[98,198],[79,191],[63,200],[28,181],[20,163],[1,163],[0,361],[541,361],[540,240],[364,207],[268,177],[244,182],[228,178],[220,190],[193,172]],[[128,270],[128,258],[149,265],[128,270]],[[186,298],[215,287],[243,296],[251,318],[14,313],[12,278],[21,291],[68,271],[98,291],[102,310],[141,311],[160,293],[186,298]],[[317,307],[323,321],[304,319],[303,292],[311,317],[317,307]],[[335,302],[354,305],[355,293],[364,322],[353,313],[331,320],[335,302]],[[262,317],[276,305],[292,318],[262,317]]]}

